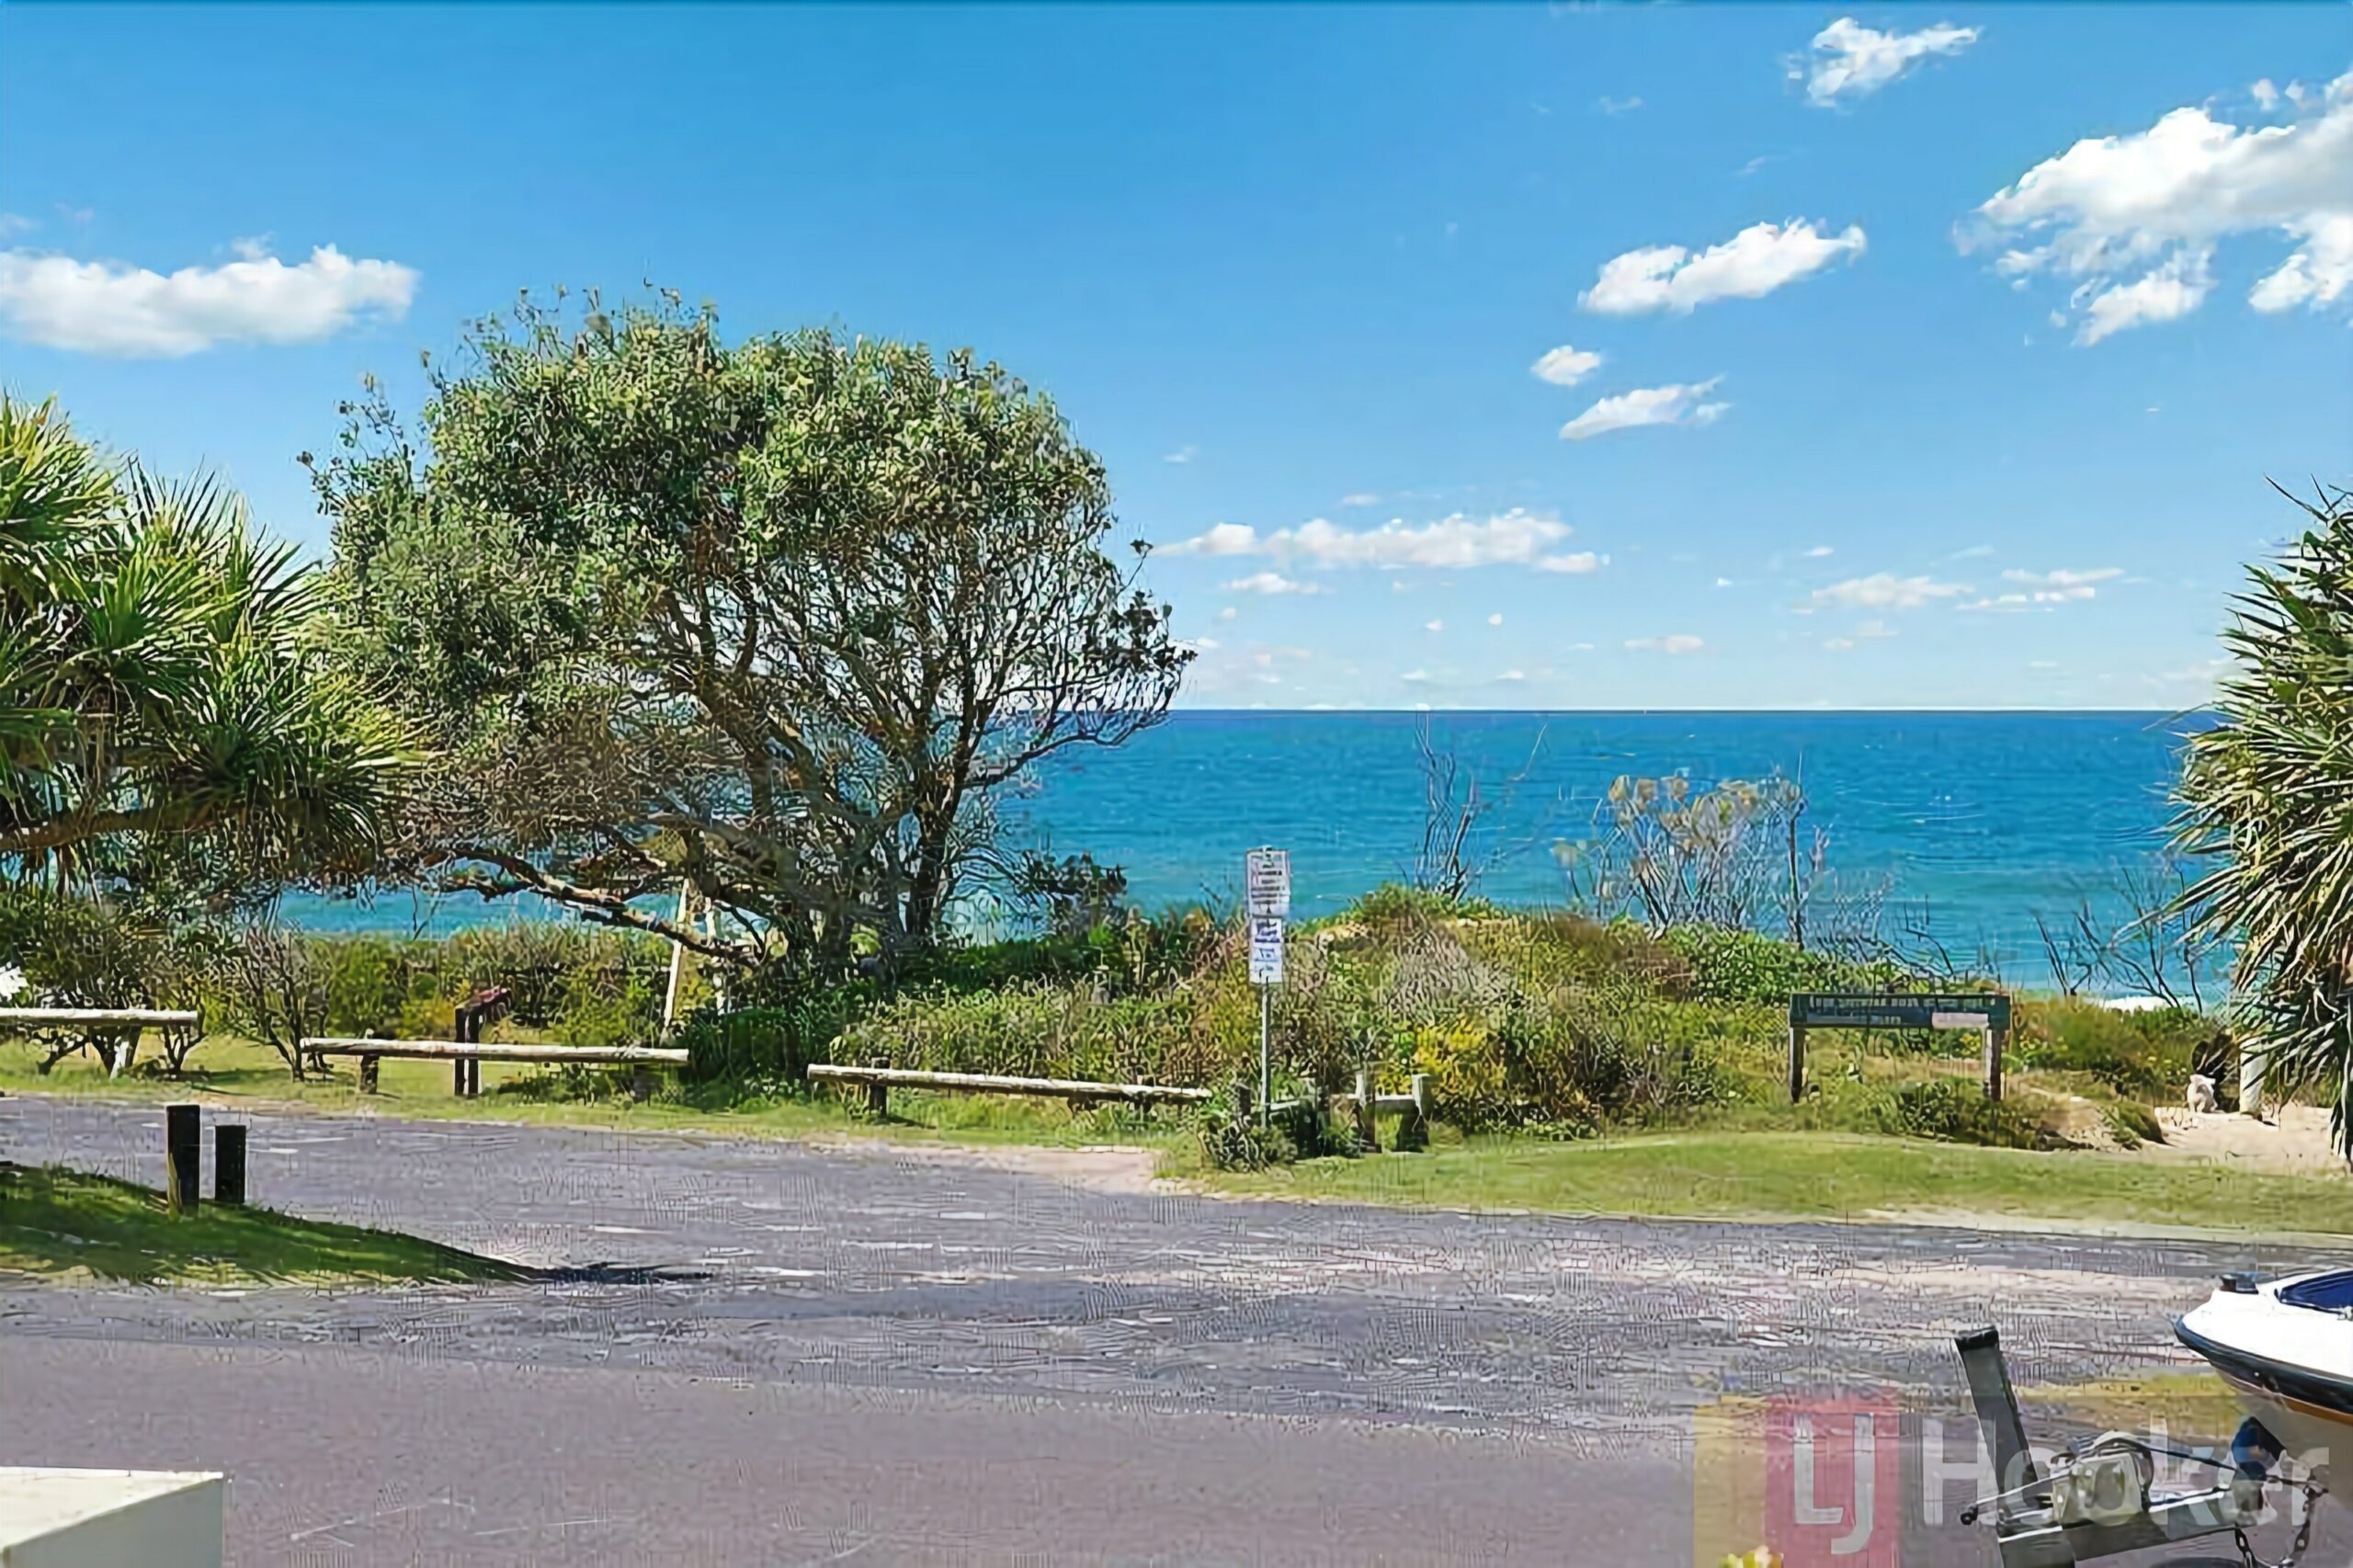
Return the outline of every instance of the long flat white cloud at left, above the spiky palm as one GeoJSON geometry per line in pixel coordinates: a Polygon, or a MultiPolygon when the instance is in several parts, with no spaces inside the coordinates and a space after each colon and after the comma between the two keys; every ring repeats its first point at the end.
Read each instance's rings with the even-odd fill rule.
{"type": "Polygon", "coordinates": [[[219,344],[308,344],[362,318],[398,320],[416,271],[320,245],[287,266],[256,245],[221,266],[155,273],[125,261],[0,252],[0,320],[49,348],[179,358],[219,344]]]}

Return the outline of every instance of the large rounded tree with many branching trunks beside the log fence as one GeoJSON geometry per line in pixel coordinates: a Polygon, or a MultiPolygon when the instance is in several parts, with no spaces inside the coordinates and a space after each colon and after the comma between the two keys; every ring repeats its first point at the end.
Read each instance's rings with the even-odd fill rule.
{"type": "Polygon", "coordinates": [[[889,961],[998,864],[998,793],[1158,723],[1188,657],[1104,551],[1096,457],[969,353],[525,299],[421,440],[346,412],[348,647],[438,744],[405,850],[442,888],[889,961]]]}

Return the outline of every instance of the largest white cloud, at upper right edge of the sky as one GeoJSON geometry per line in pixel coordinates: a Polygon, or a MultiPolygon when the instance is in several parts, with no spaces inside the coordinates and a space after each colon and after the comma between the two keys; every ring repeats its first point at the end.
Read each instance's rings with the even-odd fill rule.
{"type": "Polygon", "coordinates": [[[2294,245],[2249,290],[2257,311],[2353,304],[2353,71],[2278,97],[2297,120],[2233,125],[2191,106],[2087,137],[1986,200],[1960,245],[2009,242],[1993,264],[2005,275],[2075,278],[2082,344],[2195,311],[2214,290],[2217,242],[2247,233],[2294,245]]]}

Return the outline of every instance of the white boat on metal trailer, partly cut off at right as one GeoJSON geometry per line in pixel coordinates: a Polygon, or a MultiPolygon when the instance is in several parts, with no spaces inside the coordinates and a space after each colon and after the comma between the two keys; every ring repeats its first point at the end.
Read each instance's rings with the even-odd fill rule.
{"type": "MultiPolygon", "coordinates": [[[[1995,1493],[1962,1523],[1991,1523],[2002,1568],[2068,1568],[2104,1556],[2231,1537],[2242,1568],[2294,1568],[2327,1493],[2332,1443],[2353,1453],[2353,1269],[2273,1283],[2226,1276],[2174,1333],[2231,1384],[2247,1420],[2228,1450],[2162,1434],[2104,1431],[2038,1455],[2026,1441],[2000,1335],[1960,1335],[1969,1403],[1995,1493]],[[2301,1316],[2299,1316],[2301,1314],[2301,1316]],[[2160,1471],[2193,1476],[2186,1488],[2160,1471]],[[2287,1556],[2257,1556],[2249,1530],[2287,1519],[2287,1556]]],[[[2200,1559],[2212,1563],[2217,1559],[2200,1559]]]]}

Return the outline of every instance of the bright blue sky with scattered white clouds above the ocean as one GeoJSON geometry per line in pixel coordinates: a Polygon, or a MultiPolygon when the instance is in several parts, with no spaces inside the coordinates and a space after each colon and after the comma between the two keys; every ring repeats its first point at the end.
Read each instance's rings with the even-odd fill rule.
{"type": "Polygon", "coordinates": [[[318,549],[525,285],[969,344],[1195,706],[2186,706],[2353,480],[2337,5],[14,5],[0,214],[0,384],[318,549]]]}

